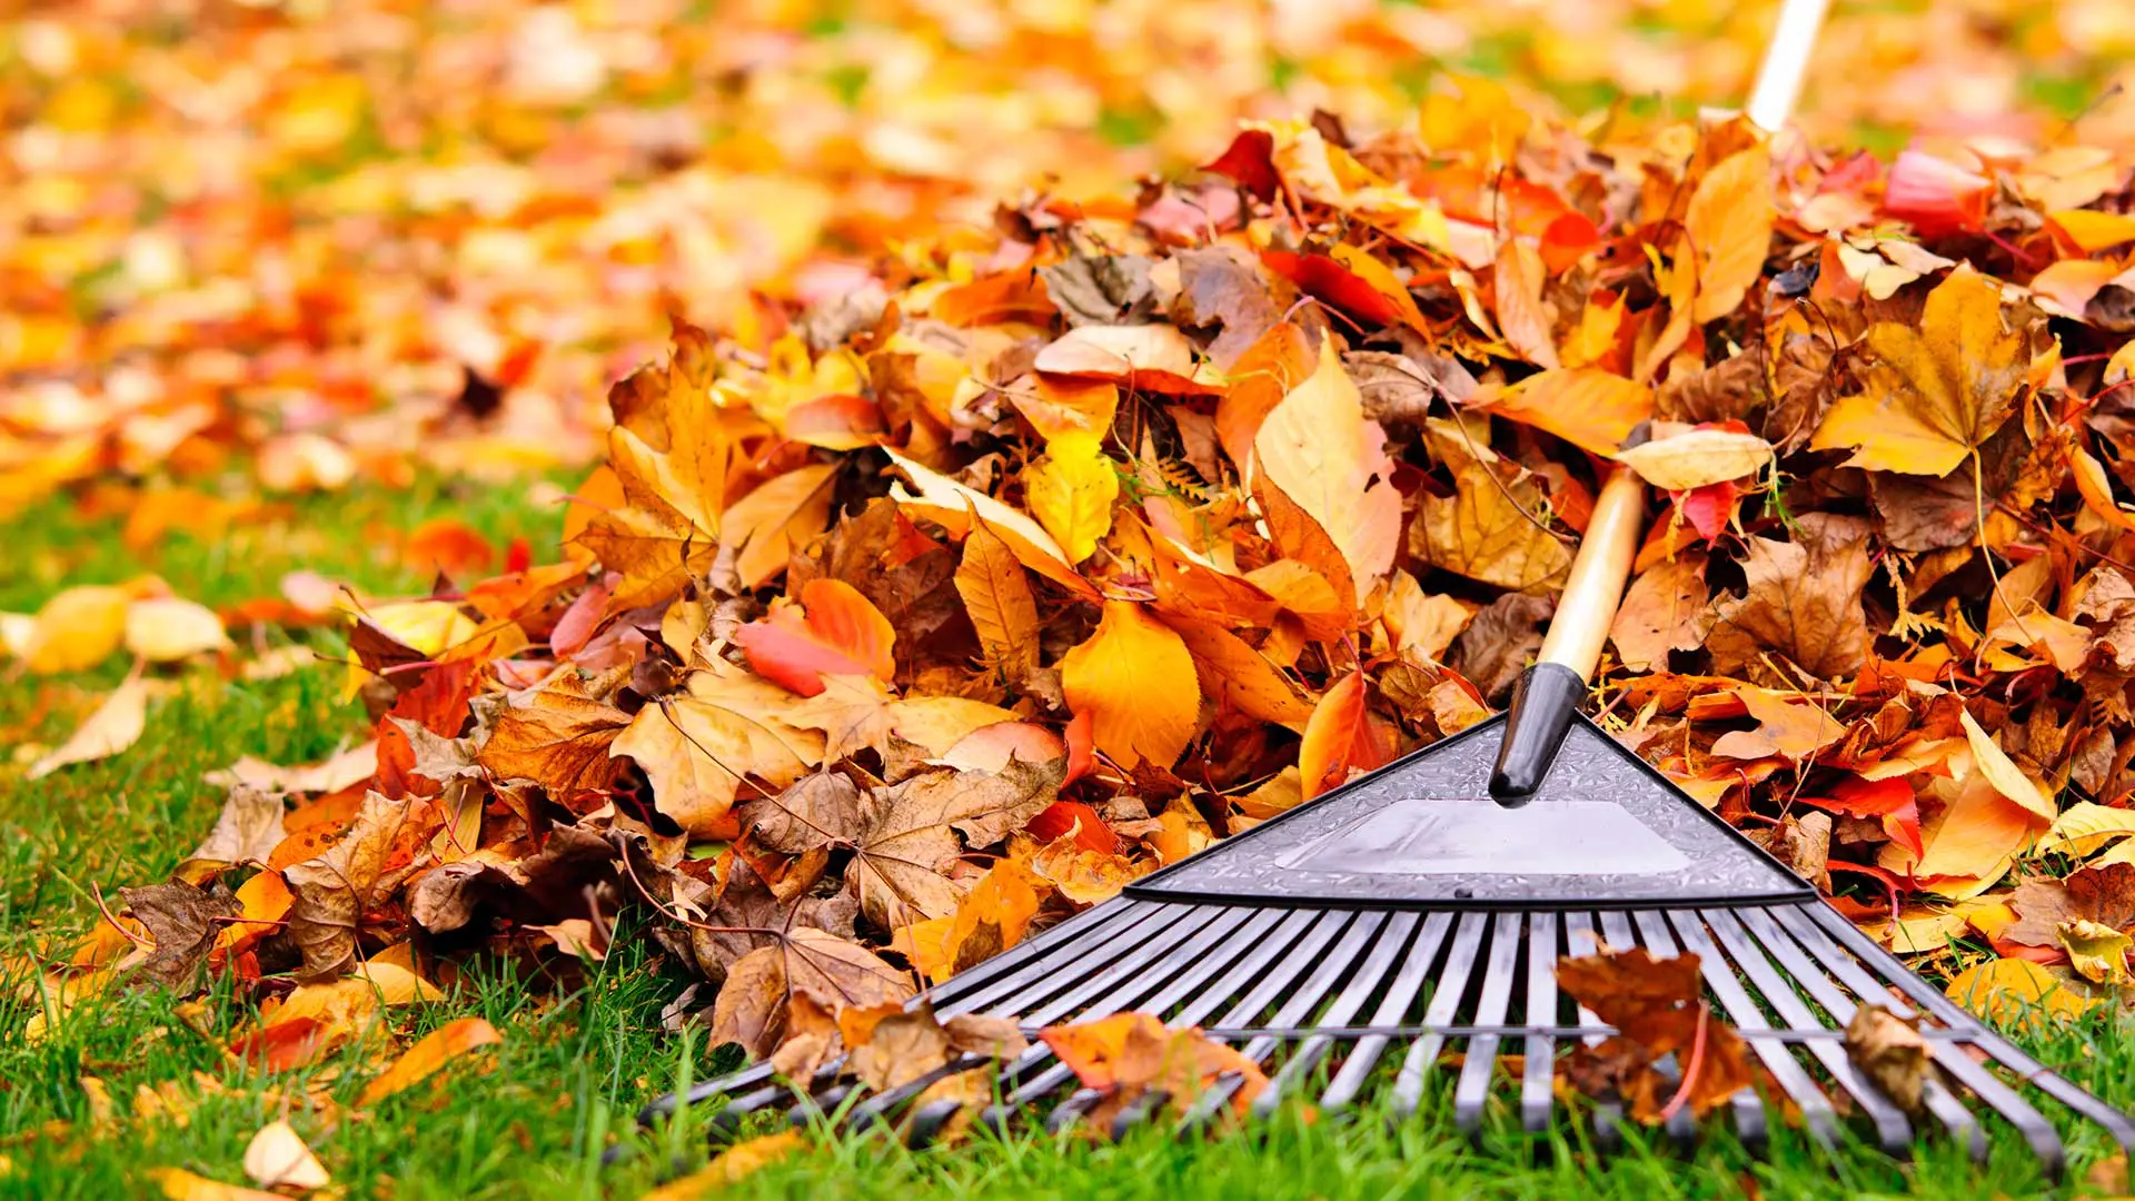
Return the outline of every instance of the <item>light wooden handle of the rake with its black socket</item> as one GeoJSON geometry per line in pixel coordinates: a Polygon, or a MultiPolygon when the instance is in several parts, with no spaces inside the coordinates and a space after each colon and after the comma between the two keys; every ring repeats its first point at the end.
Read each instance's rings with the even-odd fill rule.
{"type": "MultiPolygon", "coordinates": [[[[1802,94],[1802,75],[1817,47],[1817,30],[1830,0],[1787,0],[1764,51],[1757,85],[1749,98],[1749,120],[1766,132],[1787,124],[1802,94]]],[[[1595,498],[1586,539],[1571,560],[1565,592],[1550,618],[1541,656],[1512,692],[1505,739],[1490,769],[1490,797],[1501,806],[1524,806],[1550,774],[1550,763],[1571,731],[1571,716],[1586,699],[1586,680],[1601,662],[1601,645],[1616,622],[1631,560],[1638,558],[1646,489],[1627,466],[1616,466],[1595,498]]]]}

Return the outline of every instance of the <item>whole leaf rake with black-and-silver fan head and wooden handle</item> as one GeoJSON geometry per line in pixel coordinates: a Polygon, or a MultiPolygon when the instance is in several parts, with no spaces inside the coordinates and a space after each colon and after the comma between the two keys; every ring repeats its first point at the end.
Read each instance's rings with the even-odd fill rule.
{"type": "MultiPolygon", "coordinates": [[[[1821,6],[1789,0],[1781,17],[1751,100],[1766,128],[1791,107],[1821,6]]],[[[1200,1026],[1266,1073],[1255,1116],[1304,1101],[1324,1116],[1383,1103],[1401,1118],[1450,1083],[1454,1122],[1471,1137],[1505,1088],[1520,1126],[1544,1133],[1556,1111],[1556,1058],[1614,1032],[1554,977],[1559,957],[1601,940],[1657,957],[1697,955],[1706,1004],[1742,1032],[1783,1094],[1744,1088],[1725,1103],[1753,1150],[1798,1116],[1823,1145],[1860,1128],[1902,1158],[1915,1137],[1947,1135],[1983,1163],[1990,1111],[2058,1175],[2067,1156],[2039,1098],[2135,1150],[2124,1113],[1915,977],[1580,714],[1642,511],[1642,485],[1616,468],[1507,714],[1155,872],[924,1000],[939,1017],[1014,1017],[1025,1030],[1125,1011],[1200,1026]],[[1917,1021],[1941,1069],[1911,1113],[1849,1062],[1843,1032],[1862,1004],[1917,1021]]],[[[726,1130],[752,1113],[786,1111],[794,1122],[856,1128],[895,1122],[922,1145],[963,1103],[920,1105],[920,1094],[986,1062],[959,1058],[877,1094],[839,1081],[837,1064],[807,1081],[760,1064],[664,1096],[640,1122],[724,1098],[715,1126],[726,1130]]],[[[1044,1043],[995,1071],[995,1098],[978,1113],[993,1128],[1061,1130],[1104,1101],[1044,1043]]],[[[1183,1128],[1206,1126],[1240,1088],[1230,1073],[1193,1098],[1149,1092],[1110,1126],[1119,1135],[1172,1109],[1183,1128]]],[[[1623,1126],[1620,1107],[1593,1107],[1603,1150],[1620,1145],[1623,1126]]],[[[1680,1145],[1697,1135],[1687,1109],[1663,1128],[1680,1145]]]]}

